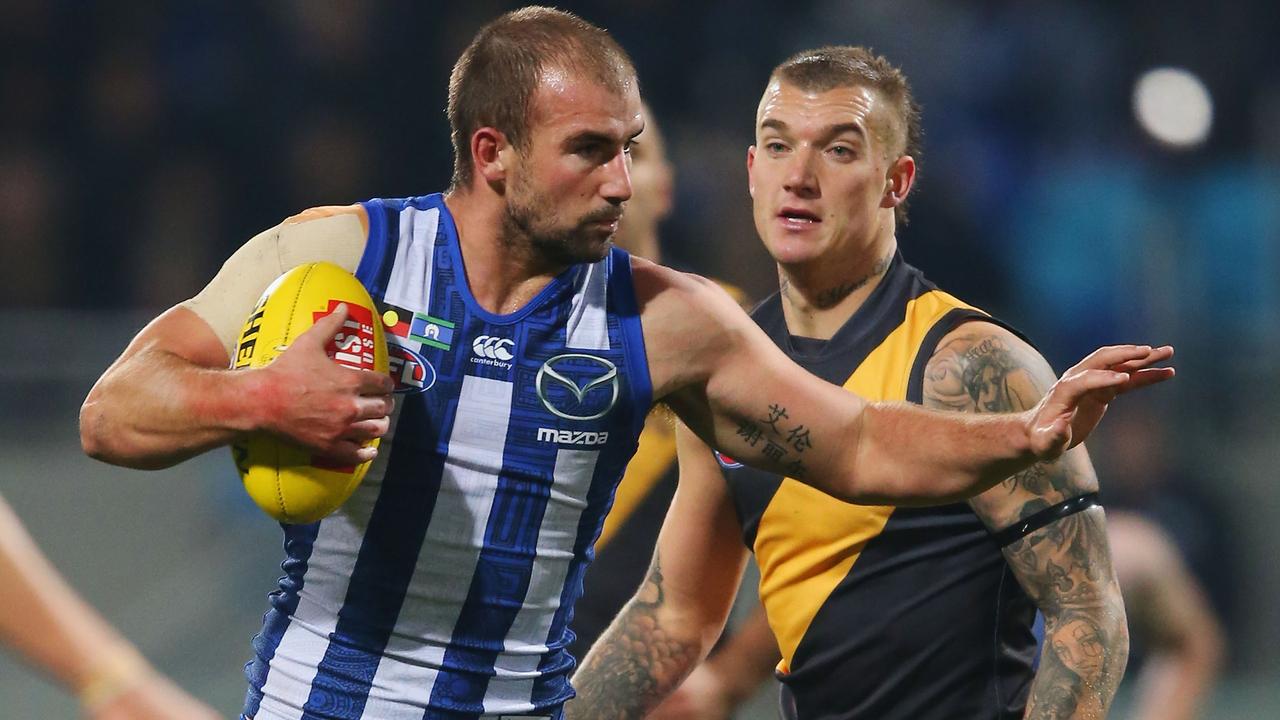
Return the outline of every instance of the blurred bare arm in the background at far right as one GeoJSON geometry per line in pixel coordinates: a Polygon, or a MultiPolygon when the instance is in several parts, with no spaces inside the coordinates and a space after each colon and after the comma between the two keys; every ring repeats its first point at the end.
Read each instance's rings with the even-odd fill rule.
{"type": "Polygon", "coordinates": [[[1112,512],[1111,556],[1130,625],[1148,650],[1134,720],[1193,720],[1222,665],[1222,626],[1178,548],[1152,523],[1112,512]]]}

